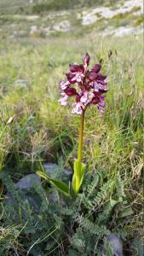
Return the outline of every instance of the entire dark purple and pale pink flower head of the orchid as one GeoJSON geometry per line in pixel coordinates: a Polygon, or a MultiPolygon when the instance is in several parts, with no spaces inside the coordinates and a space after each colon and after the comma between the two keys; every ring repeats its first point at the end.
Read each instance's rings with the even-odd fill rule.
{"type": "Polygon", "coordinates": [[[88,69],[90,56],[87,53],[84,56],[83,64],[69,65],[69,71],[66,73],[66,81],[60,82],[61,98],[59,100],[62,106],[66,106],[69,97],[74,97],[75,102],[72,113],[81,115],[88,106],[97,105],[100,113],[105,108],[103,94],[107,92],[107,76],[100,73],[101,65],[95,64],[91,70],[88,69]],[[74,86],[74,87],[73,87],[74,86]]]}

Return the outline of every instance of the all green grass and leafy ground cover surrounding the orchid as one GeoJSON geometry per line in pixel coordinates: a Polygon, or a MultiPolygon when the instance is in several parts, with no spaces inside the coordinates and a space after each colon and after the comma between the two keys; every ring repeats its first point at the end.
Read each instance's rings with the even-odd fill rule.
{"type": "MultiPolygon", "coordinates": [[[[108,30],[108,25],[117,27],[124,22],[130,24],[130,19],[139,26],[143,17],[134,17],[132,11],[98,20],[96,26],[80,26],[81,18],[75,19],[71,9],[63,17],[72,23],[72,31],[46,35],[41,27],[63,20],[47,14],[70,8],[66,7],[70,2],[33,1],[30,7],[26,5],[28,1],[14,0],[11,5],[9,0],[0,1],[0,255],[3,256],[101,255],[102,239],[110,231],[123,239],[126,255],[136,255],[130,247],[134,238],[141,244],[142,36],[103,38],[97,30],[106,27],[108,30]],[[51,12],[40,11],[36,20],[28,20],[26,14],[32,14],[35,6],[43,4],[51,6],[51,12]],[[37,26],[37,30],[30,34],[32,26],[37,26]],[[55,178],[69,184],[63,169],[70,169],[78,154],[79,117],[73,116],[70,108],[60,106],[59,81],[64,78],[68,64],[79,63],[86,52],[92,61],[101,61],[101,73],[108,76],[109,92],[102,116],[95,106],[86,112],[86,171],[80,194],[72,200],[54,186],[55,178]],[[10,117],[12,122],[8,122],[10,117]],[[50,183],[43,181],[29,191],[28,195],[36,197],[36,207],[33,201],[25,200],[26,191],[15,189],[14,183],[26,174],[43,172],[44,163],[58,164],[60,172],[54,173],[50,183]],[[8,192],[13,204],[5,201],[8,192]]],[[[77,3],[83,5],[80,0],[77,3]]]]}

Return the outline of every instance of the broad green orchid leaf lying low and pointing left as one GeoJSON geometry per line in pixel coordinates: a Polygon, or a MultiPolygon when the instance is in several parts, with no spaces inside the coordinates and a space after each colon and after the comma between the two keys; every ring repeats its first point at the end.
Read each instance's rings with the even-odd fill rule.
{"type": "Polygon", "coordinates": [[[55,178],[51,178],[49,177],[46,173],[44,172],[36,172],[37,175],[39,175],[40,177],[43,177],[44,179],[46,179],[47,181],[49,181],[49,183],[52,183],[53,185],[55,185],[56,189],[59,189],[60,192],[64,193],[66,196],[69,196],[69,188],[66,185],[66,183],[61,182],[60,180],[57,180],[55,178]]]}

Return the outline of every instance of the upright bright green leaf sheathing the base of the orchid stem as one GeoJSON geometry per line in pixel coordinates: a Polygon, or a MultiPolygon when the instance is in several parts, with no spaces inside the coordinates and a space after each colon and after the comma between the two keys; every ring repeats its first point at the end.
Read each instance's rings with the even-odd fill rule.
{"type": "Polygon", "coordinates": [[[74,193],[77,195],[80,189],[80,186],[84,178],[84,167],[85,165],[79,160],[74,161],[74,174],[72,177],[72,188],[74,193]]]}

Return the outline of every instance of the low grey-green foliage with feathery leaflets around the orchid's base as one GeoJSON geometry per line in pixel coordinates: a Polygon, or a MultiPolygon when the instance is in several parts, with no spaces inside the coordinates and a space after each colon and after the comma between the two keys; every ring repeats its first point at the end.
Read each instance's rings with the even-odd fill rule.
{"type": "Polygon", "coordinates": [[[99,241],[109,230],[125,239],[127,233],[123,226],[129,223],[133,211],[125,200],[119,175],[108,181],[103,176],[100,183],[97,172],[93,175],[88,172],[84,193],[75,201],[61,200],[56,190],[46,191],[35,183],[29,196],[34,194],[37,207],[24,200],[25,191],[14,189],[6,172],[3,172],[3,183],[13,195],[14,204],[3,204],[4,223],[12,228],[3,228],[0,236],[2,255],[15,252],[19,255],[101,255],[99,241]],[[55,201],[50,201],[50,193],[55,201]]]}

